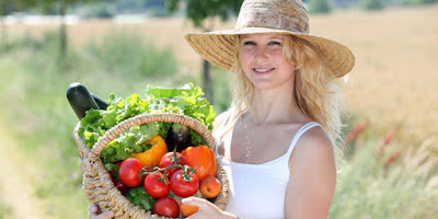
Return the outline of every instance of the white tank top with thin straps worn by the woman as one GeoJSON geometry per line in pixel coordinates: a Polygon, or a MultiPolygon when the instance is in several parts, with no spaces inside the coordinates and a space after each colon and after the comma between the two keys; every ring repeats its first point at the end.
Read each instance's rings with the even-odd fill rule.
{"type": "Polygon", "coordinates": [[[290,176],[289,158],[300,136],[315,126],[321,125],[310,122],[302,126],[285,154],[261,164],[238,163],[222,159],[217,150],[221,139],[217,139],[216,157],[230,183],[226,211],[242,219],[285,218],[286,188],[290,176]]]}

